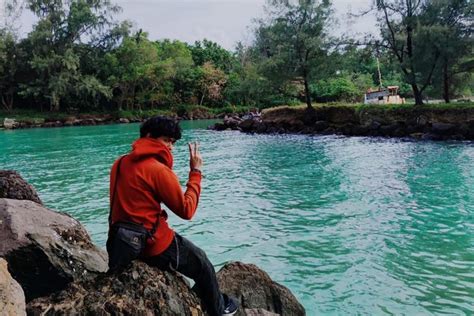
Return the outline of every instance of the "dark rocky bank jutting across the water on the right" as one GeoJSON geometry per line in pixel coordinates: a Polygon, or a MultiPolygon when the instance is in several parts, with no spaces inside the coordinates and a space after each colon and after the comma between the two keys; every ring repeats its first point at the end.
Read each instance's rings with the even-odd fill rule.
{"type": "Polygon", "coordinates": [[[260,117],[226,117],[213,130],[257,134],[408,137],[421,140],[474,140],[474,108],[377,109],[322,106],[313,110],[279,107],[260,117]]]}

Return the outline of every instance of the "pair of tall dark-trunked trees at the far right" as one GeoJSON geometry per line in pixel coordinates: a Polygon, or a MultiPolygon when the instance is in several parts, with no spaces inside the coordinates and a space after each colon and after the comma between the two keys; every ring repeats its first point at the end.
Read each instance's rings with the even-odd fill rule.
{"type": "Polygon", "coordinates": [[[471,1],[377,0],[376,7],[384,46],[399,63],[416,104],[440,78],[448,102],[453,69],[472,55],[471,1]]]}

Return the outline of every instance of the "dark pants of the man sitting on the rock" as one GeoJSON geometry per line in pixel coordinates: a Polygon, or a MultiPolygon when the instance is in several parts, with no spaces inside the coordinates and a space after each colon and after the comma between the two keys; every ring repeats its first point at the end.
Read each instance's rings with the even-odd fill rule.
{"type": "Polygon", "coordinates": [[[209,315],[222,315],[224,299],[217,284],[216,272],[206,253],[186,238],[176,234],[171,245],[158,256],[144,258],[147,264],[163,271],[176,270],[196,282],[209,315]]]}

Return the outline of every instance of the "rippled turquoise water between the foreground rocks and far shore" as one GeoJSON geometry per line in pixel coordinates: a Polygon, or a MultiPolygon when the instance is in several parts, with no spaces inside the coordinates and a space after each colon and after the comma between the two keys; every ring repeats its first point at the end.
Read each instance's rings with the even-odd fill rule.
{"type": "MultiPolygon", "coordinates": [[[[201,142],[199,209],[171,225],[217,268],[255,263],[308,315],[472,314],[474,144],[245,135],[184,122],[201,142]]],[[[138,125],[0,132],[0,169],[84,223],[104,246],[108,173],[138,125]]]]}

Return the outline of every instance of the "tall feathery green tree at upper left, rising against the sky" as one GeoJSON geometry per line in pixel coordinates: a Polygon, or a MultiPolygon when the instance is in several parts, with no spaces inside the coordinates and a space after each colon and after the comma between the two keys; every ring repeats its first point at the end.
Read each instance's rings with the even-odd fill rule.
{"type": "Polygon", "coordinates": [[[38,102],[47,100],[54,111],[79,96],[109,97],[109,89],[95,74],[81,69],[80,48],[93,47],[108,37],[114,26],[110,14],[118,8],[108,0],[29,0],[27,6],[39,21],[24,43],[35,75],[21,85],[21,94],[38,102]]]}

